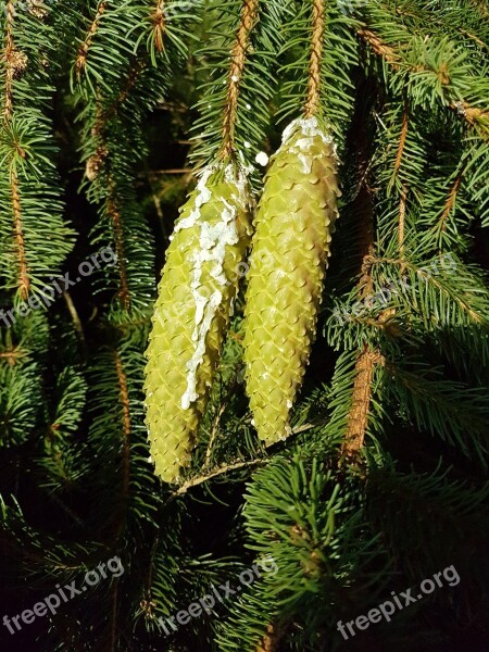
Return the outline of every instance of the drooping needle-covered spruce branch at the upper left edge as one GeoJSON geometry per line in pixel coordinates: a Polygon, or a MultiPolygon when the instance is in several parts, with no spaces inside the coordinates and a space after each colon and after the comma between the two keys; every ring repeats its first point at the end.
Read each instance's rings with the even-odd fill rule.
{"type": "Polygon", "coordinates": [[[74,234],[62,220],[57,148],[48,117],[54,91],[52,26],[21,11],[14,0],[4,8],[0,276],[2,286],[15,289],[16,299],[25,301],[29,294],[41,294],[46,277],[59,272],[74,234]]]}

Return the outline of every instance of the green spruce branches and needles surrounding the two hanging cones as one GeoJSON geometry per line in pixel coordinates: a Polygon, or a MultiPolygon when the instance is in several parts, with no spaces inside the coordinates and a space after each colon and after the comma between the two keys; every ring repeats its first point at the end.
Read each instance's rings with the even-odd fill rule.
{"type": "Polygon", "coordinates": [[[0,2],[2,614],[123,568],[13,635],[1,615],[2,650],[486,649],[488,17],[484,0],[0,2]],[[256,154],[312,115],[342,196],[290,436],[252,422],[241,241],[195,448],[163,481],[145,352],[178,210],[221,165],[258,202],[256,154]],[[449,566],[459,586],[339,632],[449,566]]]}

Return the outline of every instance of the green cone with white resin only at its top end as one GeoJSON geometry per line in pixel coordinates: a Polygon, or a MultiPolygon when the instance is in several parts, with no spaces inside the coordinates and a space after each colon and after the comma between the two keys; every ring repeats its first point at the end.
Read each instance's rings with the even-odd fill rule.
{"type": "Polygon", "coordinates": [[[290,434],[289,413],[315,335],[339,196],[333,138],[315,118],[294,121],[265,177],[244,309],[247,392],[266,444],[290,434]]]}

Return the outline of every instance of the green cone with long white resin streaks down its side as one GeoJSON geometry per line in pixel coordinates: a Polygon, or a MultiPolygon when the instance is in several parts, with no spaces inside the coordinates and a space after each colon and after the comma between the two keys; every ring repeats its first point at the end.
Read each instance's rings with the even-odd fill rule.
{"type": "Polygon", "coordinates": [[[155,473],[178,480],[200,417],[249,246],[246,173],[209,166],[175,224],[146,352],[146,423],[155,473]]]}

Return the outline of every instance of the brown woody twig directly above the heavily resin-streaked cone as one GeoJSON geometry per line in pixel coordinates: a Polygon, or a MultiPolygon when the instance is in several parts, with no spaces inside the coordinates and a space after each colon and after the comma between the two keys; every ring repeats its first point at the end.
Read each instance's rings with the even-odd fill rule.
{"type": "Polygon", "coordinates": [[[250,33],[258,20],[259,0],[244,0],[241,20],[231,54],[231,65],[227,79],[226,105],[223,123],[223,146],[221,156],[235,154],[235,129],[238,120],[239,89],[250,46],[250,33]]]}

